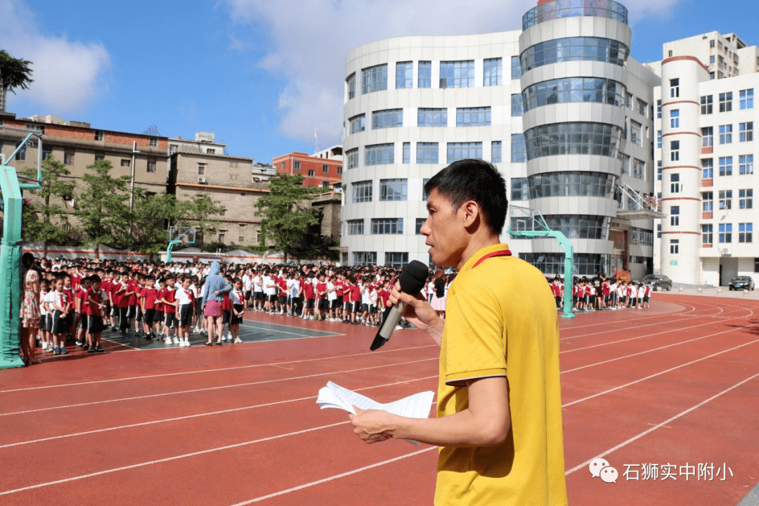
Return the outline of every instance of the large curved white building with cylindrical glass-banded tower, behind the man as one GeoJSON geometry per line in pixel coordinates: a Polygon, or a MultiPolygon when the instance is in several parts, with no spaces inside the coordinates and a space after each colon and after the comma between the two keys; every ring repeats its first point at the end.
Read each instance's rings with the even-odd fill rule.
{"type": "MultiPolygon", "coordinates": [[[[575,274],[650,272],[653,221],[632,197],[653,194],[659,78],[628,58],[627,10],[585,3],[539,5],[521,31],[386,39],[348,55],[344,262],[428,262],[424,183],[482,158],[504,175],[510,205],[572,241],[575,274]]],[[[507,225],[534,226],[519,212],[507,225]]],[[[563,272],[553,240],[502,240],[546,275],[563,272]]]]}

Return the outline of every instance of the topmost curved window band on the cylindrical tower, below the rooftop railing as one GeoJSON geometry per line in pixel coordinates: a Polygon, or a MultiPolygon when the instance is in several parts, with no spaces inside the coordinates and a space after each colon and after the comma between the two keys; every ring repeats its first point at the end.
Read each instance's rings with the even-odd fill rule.
{"type": "Polygon", "coordinates": [[[624,66],[629,54],[622,42],[599,37],[565,37],[540,42],[520,55],[521,69],[530,71],[560,61],[605,61],[624,66]]]}

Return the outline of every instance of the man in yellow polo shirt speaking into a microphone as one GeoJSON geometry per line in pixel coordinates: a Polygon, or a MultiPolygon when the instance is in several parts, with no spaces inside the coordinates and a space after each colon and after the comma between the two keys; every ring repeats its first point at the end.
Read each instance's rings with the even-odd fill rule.
{"type": "Polygon", "coordinates": [[[556,304],[540,271],[499,241],[503,178],[490,163],[461,160],[424,189],[432,261],[458,269],[446,320],[399,284],[390,303],[407,303],[406,318],[440,346],[437,416],[357,410],[354,432],[441,447],[437,506],[566,504],[556,304]]]}

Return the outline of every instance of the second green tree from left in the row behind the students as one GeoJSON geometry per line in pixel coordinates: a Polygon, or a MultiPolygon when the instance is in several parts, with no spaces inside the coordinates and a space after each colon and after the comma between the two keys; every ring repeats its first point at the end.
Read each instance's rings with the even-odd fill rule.
{"type": "Polygon", "coordinates": [[[125,203],[129,199],[129,176],[114,178],[108,160],[97,160],[87,165],[92,171],[82,176],[83,189],[77,199],[77,210],[85,240],[100,257],[100,244],[114,248],[129,245],[131,213],[125,203]]]}

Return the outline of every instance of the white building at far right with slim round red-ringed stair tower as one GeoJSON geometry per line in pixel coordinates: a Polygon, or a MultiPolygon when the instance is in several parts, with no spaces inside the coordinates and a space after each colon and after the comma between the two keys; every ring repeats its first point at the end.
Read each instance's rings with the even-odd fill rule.
{"type": "Polygon", "coordinates": [[[757,47],[711,32],[665,44],[664,56],[655,156],[668,216],[657,230],[654,269],[684,284],[725,286],[735,275],[759,284],[757,47]]]}

